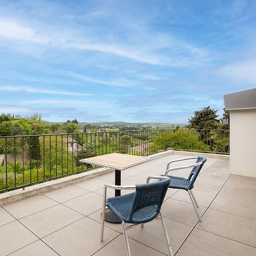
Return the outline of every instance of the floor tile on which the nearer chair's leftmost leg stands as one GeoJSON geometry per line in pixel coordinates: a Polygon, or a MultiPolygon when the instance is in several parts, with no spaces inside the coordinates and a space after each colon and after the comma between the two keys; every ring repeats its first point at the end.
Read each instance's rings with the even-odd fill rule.
{"type": "Polygon", "coordinates": [[[119,234],[105,227],[104,242],[100,242],[100,230],[100,224],[85,217],[43,238],[43,241],[61,256],[89,256],[96,253],[97,250],[101,249],[119,234]]]}

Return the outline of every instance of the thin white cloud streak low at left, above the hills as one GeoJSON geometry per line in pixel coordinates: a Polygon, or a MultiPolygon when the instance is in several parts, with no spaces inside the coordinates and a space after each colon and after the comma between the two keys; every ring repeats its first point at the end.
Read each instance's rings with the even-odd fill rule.
{"type": "Polygon", "coordinates": [[[61,90],[36,89],[27,86],[0,86],[3,92],[27,92],[27,93],[44,93],[66,96],[92,96],[90,93],[65,92],[61,90]]]}

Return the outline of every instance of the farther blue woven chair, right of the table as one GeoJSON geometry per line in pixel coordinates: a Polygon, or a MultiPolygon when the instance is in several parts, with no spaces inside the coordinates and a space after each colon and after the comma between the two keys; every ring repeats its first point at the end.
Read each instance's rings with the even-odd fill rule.
{"type": "Polygon", "coordinates": [[[189,195],[190,200],[193,204],[193,207],[196,211],[197,217],[199,218],[199,221],[202,221],[201,217],[199,215],[199,212],[197,210],[197,208],[199,208],[199,205],[196,201],[196,197],[195,197],[194,193],[192,192],[192,188],[194,187],[196,178],[199,175],[199,172],[201,171],[201,168],[203,167],[203,165],[206,161],[207,161],[206,158],[201,158],[200,156],[172,160],[167,164],[166,173],[164,174],[164,176],[170,177],[170,179],[171,179],[169,188],[184,189],[184,190],[188,191],[188,195],[189,195]],[[189,164],[188,166],[180,166],[180,167],[170,168],[171,163],[180,162],[180,161],[184,161],[184,160],[191,160],[191,159],[196,159],[196,163],[189,164]],[[192,171],[189,174],[187,179],[185,179],[184,177],[177,177],[177,176],[169,175],[169,173],[172,171],[177,171],[177,170],[182,170],[182,169],[187,169],[187,168],[192,168],[192,171]]]}

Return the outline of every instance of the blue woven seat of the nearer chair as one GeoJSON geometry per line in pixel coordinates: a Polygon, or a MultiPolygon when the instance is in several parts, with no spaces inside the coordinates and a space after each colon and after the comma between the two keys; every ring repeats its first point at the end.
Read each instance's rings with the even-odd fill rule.
{"type": "MultiPolygon", "coordinates": [[[[130,193],[124,196],[110,197],[106,200],[106,205],[108,208],[112,210],[112,212],[119,218],[121,222],[128,222],[127,219],[129,218],[134,195],[135,193],[130,193]]],[[[148,207],[138,209],[136,212],[134,212],[131,219],[132,221],[129,221],[129,223],[139,224],[152,220],[152,218],[155,218],[158,215],[155,214],[156,208],[156,205],[150,205],[148,207]]]]}

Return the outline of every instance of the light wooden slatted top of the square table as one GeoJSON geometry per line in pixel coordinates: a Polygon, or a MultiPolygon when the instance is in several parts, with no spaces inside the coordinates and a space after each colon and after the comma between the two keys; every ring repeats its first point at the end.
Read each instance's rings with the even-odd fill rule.
{"type": "Polygon", "coordinates": [[[114,168],[115,170],[123,170],[125,168],[135,166],[150,160],[147,156],[138,156],[138,155],[126,155],[126,154],[106,154],[94,156],[93,158],[81,159],[81,163],[96,164],[97,166],[104,166],[114,168]]]}

